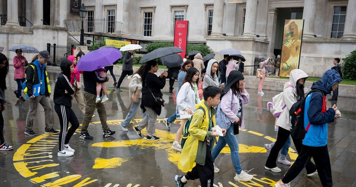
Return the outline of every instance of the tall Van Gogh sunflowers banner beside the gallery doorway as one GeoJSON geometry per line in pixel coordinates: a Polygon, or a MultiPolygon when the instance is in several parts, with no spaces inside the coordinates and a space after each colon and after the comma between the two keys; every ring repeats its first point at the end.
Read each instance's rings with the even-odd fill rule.
{"type": "Polygon", "coordinates": [[[300,48],[302,46],[304,20],[284,22],[281,66],[279,76],[289,77],[290,71],[298,69],[300,48]]]}

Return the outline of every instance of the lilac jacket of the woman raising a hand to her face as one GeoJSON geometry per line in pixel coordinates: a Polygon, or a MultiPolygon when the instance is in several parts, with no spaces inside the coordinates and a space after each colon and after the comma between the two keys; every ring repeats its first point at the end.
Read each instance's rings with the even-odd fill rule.
{"type": "MultiPolygon", "coordinates": [[[[242,93],[240,89],[240,93],[238,94],[239,98],[242,99],[242,107],[241,107],[241,119],[239,122],[239,126],[241,126],[241,129],[245,129],[245,124],[244,124],[244,104],[247,104],[250,102],[250,95],[248,93],[242,93]]],[[[230,89],[229,92],[227,92],[223,98],[221,98],[221,104],[220,104],[221,111],[226,115],[227,118],[231,121],[231,123],[234,123],[237,120],[237,112],[239,111],[240,108],[240,103],[239,99],[237,99],[236,95],[232,97],[232,90],[230,89]],[[232,101],[231,101],[232,98],[232,101]]]]}

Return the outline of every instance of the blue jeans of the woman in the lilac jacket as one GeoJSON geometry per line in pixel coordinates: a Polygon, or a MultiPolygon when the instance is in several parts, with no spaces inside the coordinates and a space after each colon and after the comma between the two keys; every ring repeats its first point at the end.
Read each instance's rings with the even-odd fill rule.
{"type": "Polygon", "coordinates": [[[213,161],[215,162],[216,157],[220,154],[220,151],[225,147],[225,145],[229,145],[231,150],[231,161],[234,165],[235,172],[240,174],[242,171],[239,157],[239,142],[237,141],[237,137],[234,135],[234,125],[231,124],[230,128],[226,130],[225,136],[220,136],[218,143],[215,145],[213,149],[213,161]]]}

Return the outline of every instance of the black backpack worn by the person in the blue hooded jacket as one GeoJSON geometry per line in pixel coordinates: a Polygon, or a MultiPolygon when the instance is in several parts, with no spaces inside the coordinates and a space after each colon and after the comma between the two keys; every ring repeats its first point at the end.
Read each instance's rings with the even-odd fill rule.
{"type": "MultiPolygon", "coordinates": [[[[318,89],[311,90],[307,94],[307,96],[313,92],[321,92],[321,90],[318,90],[318,89]]],[[[307,128],[304,129],[305,99],[307,99],[307,97],[304,97],[303,99],[298,100],[296,103],[294,103],[292,105],[292,108],[290,108],[290,110],[289,110],[289,124],[291,127],[290,135],[292,135],[293,138],[300,139],[300,140],[304,139],[305,133],[307,133],[307,131],[310,127],[310,123],[309,123],[307,128]]],[[[323,100],[323,109],[325,107],[326,107],[326,103],[325,103],[325,100],[323,100]]]]}

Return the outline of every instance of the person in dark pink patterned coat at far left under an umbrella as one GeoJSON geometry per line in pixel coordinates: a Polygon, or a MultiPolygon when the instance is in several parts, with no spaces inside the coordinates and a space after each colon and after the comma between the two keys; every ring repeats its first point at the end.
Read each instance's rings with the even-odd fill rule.
{"type": "Polygon", "coordinates": [[[14,91],[15,95],[17,98],[19,98],[20,101],[25,101],[22,97],[22,83],[25,82],[26,77],[25,77],[25,70],[26,70],[26,65],[27,65],[27,60],[24,56],[22,56],[22,50],[21,49],[16,49],[16,56],[12,60],[14,63],[14,80],[17,83],[17,90],[14,91]]]}

